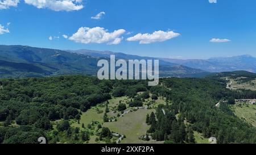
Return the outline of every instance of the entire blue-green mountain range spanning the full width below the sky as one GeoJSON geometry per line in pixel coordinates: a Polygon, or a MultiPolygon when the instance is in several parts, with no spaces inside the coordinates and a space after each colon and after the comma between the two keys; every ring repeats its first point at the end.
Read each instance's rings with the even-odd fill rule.
{"type": "Polygon", "coordinates": [[[77,51],[36,48],[23,45],[0,45],[0,78],[47,77],[61,74],[96,75],[97,62],[109,59],[159,59],[160,77],[205,77],[213,72],[246,70],[256,72],[256,58],[243,55],[208,60],[179,60],[126,55],[111,51],[77,51]]]}

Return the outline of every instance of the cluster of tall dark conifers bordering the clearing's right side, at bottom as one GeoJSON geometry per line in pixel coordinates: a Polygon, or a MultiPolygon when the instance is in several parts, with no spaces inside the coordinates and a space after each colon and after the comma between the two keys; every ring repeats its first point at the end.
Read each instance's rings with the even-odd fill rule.
{"type": "Polygon", "coordinates": [[[165,143],[196,143],[191,126],[186,127],[183,116],[176,118],[169,104],[160,104],[156,116],[152,112],[147,115],[146,123],[151,125],[147,133],[152,139],[165,141],[165,143]]]}

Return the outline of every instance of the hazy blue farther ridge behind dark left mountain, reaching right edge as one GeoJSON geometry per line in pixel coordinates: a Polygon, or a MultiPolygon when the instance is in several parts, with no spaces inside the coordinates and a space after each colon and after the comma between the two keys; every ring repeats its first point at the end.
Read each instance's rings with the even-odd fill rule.
{"type": "MultiPolygon", "coordinates": [[[[142,57],[135,55],[126,55],[124,53],[116,53],[110,51],[90,51],[81,49],[77,51],[69,51],[72,53],[80,53],[95,57],[110,57],[115,55],[116,58],[123,59],[150,59],[152,57],[142,57]]],[[[154,58],[160,60],[160,65],[183,65],[189,68],[204,70],[205,72],[232,72],[236,70],[246,70],[247,72],[256,73],[256,58],[250,55],[232,56],[232,57],[213,57],[207,60],[202,59],[174,59],[174,58],[154,58]],[[162,62],[162,63],[161,63],[162,62]],[[167,64],[167,62],[171,64],[167,64]]]]}

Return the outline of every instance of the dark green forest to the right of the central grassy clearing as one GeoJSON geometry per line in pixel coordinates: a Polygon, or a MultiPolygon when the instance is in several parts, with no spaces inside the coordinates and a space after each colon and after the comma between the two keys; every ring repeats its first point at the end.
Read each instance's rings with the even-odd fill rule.
{"type": "Polygon", "coordinates": [[[229,110],[227,104],[233,102],[215,107],[221,99],[254,99],[256,91],[228,90],[225,89],[225,81],[210,78],[167,78],[163,79],[163,86],[151,87],[150,91],[171,101],[170,105],[162,105],[156,111],[158,121],[150,122],[152,125],[148,132],[156,140],[195,143],[191,131],[197,131],[204,137],[216,137],[218,143],[256,143],[256,128],[242,122],[229,110]],[[177,114],[179,119],[175,118],[177,114]]]}

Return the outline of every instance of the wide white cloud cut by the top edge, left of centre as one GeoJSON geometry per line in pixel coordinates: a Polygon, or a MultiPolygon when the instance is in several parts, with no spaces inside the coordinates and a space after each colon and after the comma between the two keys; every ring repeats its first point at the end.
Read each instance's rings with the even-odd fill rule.
{"type": "Polygon", "coordinates": [[[38,9],[51,9],[54,11],[74,11],[80,10],[84,6],[82,0],[24,0],[28,5],[33,5],[38,9]]]}

